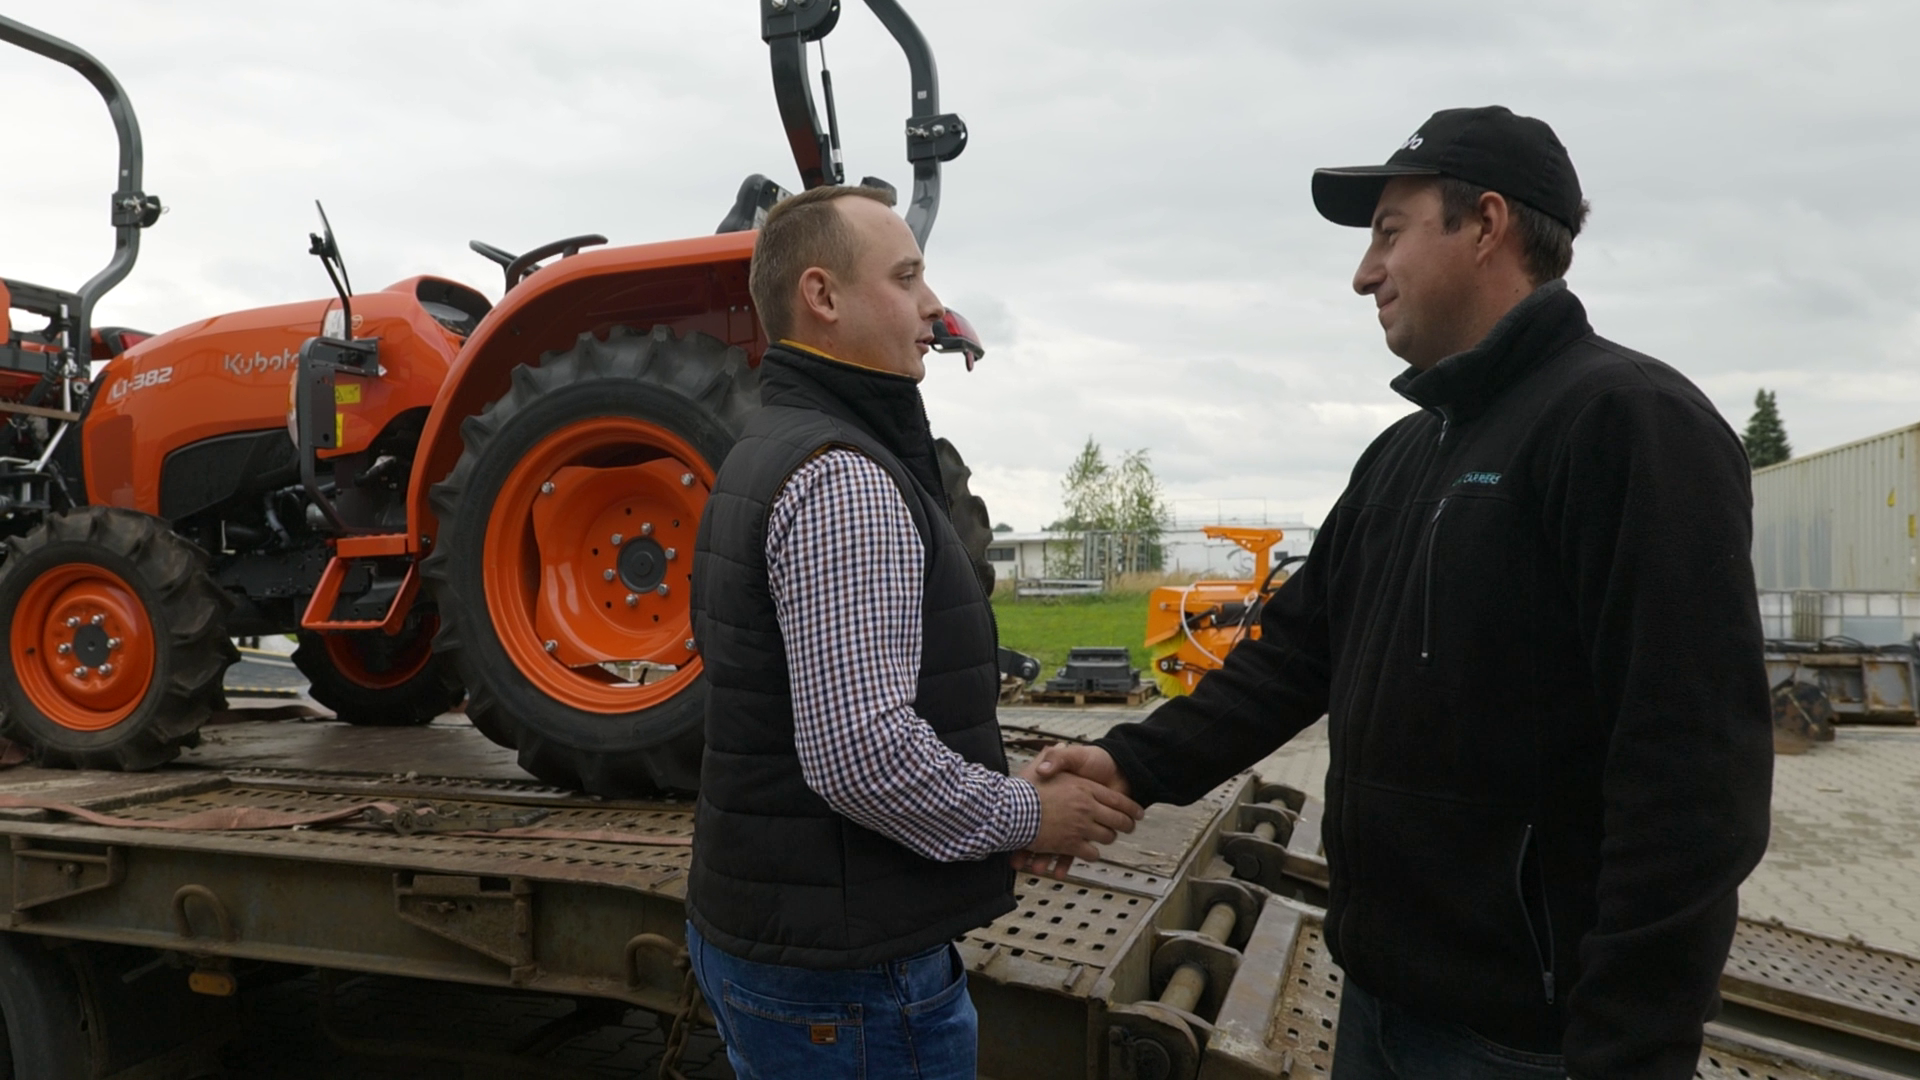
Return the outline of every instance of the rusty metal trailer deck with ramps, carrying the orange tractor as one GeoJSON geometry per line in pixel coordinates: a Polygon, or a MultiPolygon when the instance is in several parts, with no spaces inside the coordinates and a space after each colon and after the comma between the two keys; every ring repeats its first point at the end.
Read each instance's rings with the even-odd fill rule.
{"type": "MultiPolygon", "coordinates": [[[[1006,728],[1016,757],[1046,738],[1098,734],[1125,713],[1031,715],[1006,728]]],[[[547,788],[515,778],[505,753],[445,723],[232,724],[159,773],[0,773],[0,801],[146,822],[388,807],[253,832],[0,809],[6,926],[131,947],[115,963],[138,970],[165,957],[211,992],[265,961],[605,999],[697,1022],[682,955],[691,807],[547,788]],[[330,767],[300,767],[315,761],[330,767]]],[[[1325,1076],[1342,976],[1319,936],[1317,811],[1300,792],[1242,774],[1192,807],[1154,807],[1069,880],[1023,876],[1020,907],[962,942],[983,1076],[1325,1076]]],[[[1908,957],[1749,922],[1724,992],[1730,1017],[1711,1030],[1703,1078],[1920,1076],[1920,963],[1908,957]]]]}

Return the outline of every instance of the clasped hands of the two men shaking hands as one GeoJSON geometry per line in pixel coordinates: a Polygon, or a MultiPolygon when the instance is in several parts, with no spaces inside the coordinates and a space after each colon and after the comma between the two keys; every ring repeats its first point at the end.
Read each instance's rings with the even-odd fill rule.
{"type": "Polygon", "coordinates": [[[1096,746],[1048,746],[1020,778],[1041,794],[1041,832],[1014,869],[1066,878],[1073,859],[1098,859],[1096,844],[1112,844],[1146,813],[1127,794],[1114,757],[1096,746]]]}

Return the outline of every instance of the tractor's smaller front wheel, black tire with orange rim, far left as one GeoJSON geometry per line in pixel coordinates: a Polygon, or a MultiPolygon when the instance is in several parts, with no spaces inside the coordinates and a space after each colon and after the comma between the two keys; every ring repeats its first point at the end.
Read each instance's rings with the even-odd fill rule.
{"type": "Polygon", "coordinates": [[[157,517],[81,507],[8,540],[0,736],[42,765],[154,769],[200,742],[232,600],[157,517]]]}

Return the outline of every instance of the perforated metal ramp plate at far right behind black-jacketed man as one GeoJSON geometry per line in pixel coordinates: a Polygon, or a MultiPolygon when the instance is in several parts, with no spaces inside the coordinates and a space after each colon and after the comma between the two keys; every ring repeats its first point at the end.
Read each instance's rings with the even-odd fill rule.
{"type": "Polygon", "coordinates": [[[1720,976],[1728,1001],[1920,1049],[1920,961],[1741,920],[1720,976]]]}

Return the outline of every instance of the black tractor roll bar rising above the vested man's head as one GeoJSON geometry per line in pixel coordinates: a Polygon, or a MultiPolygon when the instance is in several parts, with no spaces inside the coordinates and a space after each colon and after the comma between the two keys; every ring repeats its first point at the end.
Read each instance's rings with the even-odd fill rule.
{"type": "MultiPolygon", "coordinates": [[[[933,48],[899,0],[866,0],[866,6],[899,42],[912,73],[906,160],[914,165],[914,192],[906,204],[906,225],[925,248],[933,219],[941,211],[941,161],[952,161],[966,150],[966,121],[941,111],[941,73],[933,63],[933,48]]],[[[801,184],[806,188],[839,184],[847,177],[831,123],[831,86],[828,86],[829,125],[824,131],[806,71],[806,44],[833,33],[839,10],[841,0],[760,0],[760,40],[772,52],[774,98],[780,102],[780,119],[793,146],[793,163],[801,167],[801,184]]]]}

